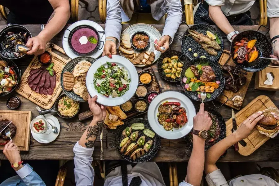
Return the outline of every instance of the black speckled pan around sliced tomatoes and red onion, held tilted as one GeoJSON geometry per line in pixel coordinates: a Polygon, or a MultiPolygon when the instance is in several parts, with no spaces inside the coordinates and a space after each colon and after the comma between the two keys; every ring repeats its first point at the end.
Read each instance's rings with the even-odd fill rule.
{"type": "MultiPolygon", "coordinates": [[[[249,41],[252,39],[257,39],[257,42],[255,44],[255,47],[259,51],[258,57],[270,57],[272,54],[272,46],[269,42],[269,39],[265,37],[260,32],[254,31],[254,30],[248,30],[239,33],[232,41],[231,44],[231,56],[233,56],[233,43],[236,41],[241,40],[241,38],[248,38],[249,41]]],[[[257,59],[254,62],[248,63],[247,61],[244,61],[242,64],[237,63],[237,59],[233,59],[233,62],[241,69],[248,71],[248,72],[258,72],[263,70],[268,66],[268,64],[271,62],[271,60],[266,59],[257,59]]]]}

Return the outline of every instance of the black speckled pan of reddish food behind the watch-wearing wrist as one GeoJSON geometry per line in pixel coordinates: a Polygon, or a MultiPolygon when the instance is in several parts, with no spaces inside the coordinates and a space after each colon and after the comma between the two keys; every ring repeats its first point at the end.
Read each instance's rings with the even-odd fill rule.
{"type": "MultiPolygon", "coordinates": [[[[199,109],[196,108],[197,113],[199,109]]],[[[211,128],[208,130],[209,136],[205,141],[204,149],[207,150],[226,137],[226,123],[222,115],[213,108],[205,107],[204,110],[210,114],[212,120],[211,128]]],[[[184,139],[188,145],[193,147],[193,129],[184,139]]]]}

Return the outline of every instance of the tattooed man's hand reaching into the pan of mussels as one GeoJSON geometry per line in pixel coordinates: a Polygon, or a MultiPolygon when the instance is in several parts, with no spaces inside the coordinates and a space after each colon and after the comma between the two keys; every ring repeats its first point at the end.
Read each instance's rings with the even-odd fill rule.
{"type": "Polygon", "coordinates": [[[40,35],[28,39],[26,46],[30,49],[30,51],[27,52],[28,55],[40,55],[44,53],[46,50],[47,42],[43,37],[40,35]]]}

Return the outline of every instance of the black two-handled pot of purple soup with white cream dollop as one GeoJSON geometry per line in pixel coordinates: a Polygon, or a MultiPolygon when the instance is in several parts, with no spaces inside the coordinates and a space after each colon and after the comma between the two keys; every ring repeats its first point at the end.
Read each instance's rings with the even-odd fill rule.
{"type": "Polygon", "coordinates": [[[98,31],[89,25],[79,25],[72,30],[67,29],[64,32],[64,38],[68,38],[70,49],[78,55],[91,54],[95,50],[100,50],[103,47],[98,48],[99,43],[103,41],[100,41],[98,31]],[[65,36],[67,31],[70,31],[68,37],[65,36]]]}

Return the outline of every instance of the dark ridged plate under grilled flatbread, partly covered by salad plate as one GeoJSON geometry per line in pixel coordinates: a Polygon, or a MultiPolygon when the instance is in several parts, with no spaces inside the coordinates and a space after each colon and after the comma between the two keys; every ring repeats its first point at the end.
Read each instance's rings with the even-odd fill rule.
{"type": "Polygon", "coordinates": [[[80,56],[80,57],[76,57],[72,60],[70,60],[65,66],[64,69],[61,72],[61,77],[60,77],[60,83],[62,86],[62,90],[63,92],[69,96],[69,98],[75,100],[75,101],[80,101],[80,102],[84,102],[85,100],[83,100],[79,95],[75,94],[73,91],[66,91],[63,85],[63,73],[64,72],[70,72],[72,73],[73,69],[75,68],[76,64],[78,64],[78,62],[82,61],[82,60],[86,60],[89,61],[91,64],[93,64],[96,59],[92,58],[92,57],[87,57],[87,56],[80,56]]]}

